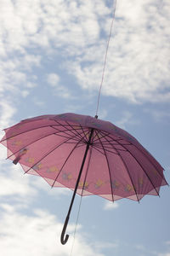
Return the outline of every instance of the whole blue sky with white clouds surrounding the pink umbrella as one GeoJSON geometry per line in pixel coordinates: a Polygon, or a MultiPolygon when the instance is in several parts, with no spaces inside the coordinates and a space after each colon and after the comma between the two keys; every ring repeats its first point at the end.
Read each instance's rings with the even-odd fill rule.
{"type": "MultiPolygon", "coordinates": [[[[0,136],[4,128],[42,114],[95,115],[112,0],[0,0],[0,136]]],[[[117,0],[99,119],[136,137],[170,183],[170,2],[117,0]]],[[[0,147],[0,251],[3,256],[70,256],[60,232],[71,201],[23,175],[0,147]]],[[[82,197],[72,255],[170,256],[170,191],[111,203],[82,197]]]]}

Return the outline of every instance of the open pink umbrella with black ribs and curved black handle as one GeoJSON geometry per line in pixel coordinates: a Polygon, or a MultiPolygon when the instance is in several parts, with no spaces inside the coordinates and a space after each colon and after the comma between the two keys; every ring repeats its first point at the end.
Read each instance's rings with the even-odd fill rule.
{"type": "Polygon", "coordinates": [[[43,115],[4,131],[1,143],[8,148],[8,159],[52,187],[74,190],[62,244],[69,237],[65,230],[76,193],[139,201],[159,195],[167,185],[161,165],[134,137],[97,116],[43,115]]]}

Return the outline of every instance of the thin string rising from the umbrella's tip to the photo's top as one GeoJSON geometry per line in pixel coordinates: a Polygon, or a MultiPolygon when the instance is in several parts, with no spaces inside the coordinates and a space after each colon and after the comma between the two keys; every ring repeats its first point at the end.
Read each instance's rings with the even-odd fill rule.
{"type": "Polygon", "coordinates": [[[114,23],[114,20],[115,20],[115,13],[116,13],[116,0],[114,0],[114,3],[113,3],[113,17],[112,17],[112,20],[111,20],[111,29],[110,29],[110,34],[109,34],[109,38],[108,38],[108,41],[107,41],[107,46],[106,46],[106,49],[105,49],[105,61],[104,61],[104,67],[103,67],[103,71],[102,71],[101,83],[100,83],[100,86],[99,86],[99,95],[98,95],[98,102],[97,102],[97,108],[96,108],[96,114],[95,114],[96,116],[98,116],[99,97],[100,97],[101,88],[102,88],[102,85],[103,85],[103,82],[104,82],[105,65],[106,65],[106,61],[107,61],[107,54],[108,54],[109,44],[110,44],[110,40],[111,40],[111,33],[112,33],[113,23],[114,23]]]}

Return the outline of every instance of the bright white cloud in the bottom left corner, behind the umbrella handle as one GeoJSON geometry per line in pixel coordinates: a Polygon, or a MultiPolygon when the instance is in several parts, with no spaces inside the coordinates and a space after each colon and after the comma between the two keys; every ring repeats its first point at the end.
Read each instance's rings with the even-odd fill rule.
{"type": "MultiPolygon", "coordinates": [[[[49,212],[35,210],[34,215],[27,216],[17,212],[14,207],[3,205],[0,220],[0,249],[3,256],[32,255],[53,256],[70,255],[72,237],[65,246],[60,244],[59,236],[63,224],[49,212]]],[[[74,224],[69,224],[67,231],[73,232],[74,224]]],[[[77,231],[78,233],[78,231],[77,231]]],[[[102,256],[88,245],[82,235],[76,236],[74,255],[102,256]]]]}

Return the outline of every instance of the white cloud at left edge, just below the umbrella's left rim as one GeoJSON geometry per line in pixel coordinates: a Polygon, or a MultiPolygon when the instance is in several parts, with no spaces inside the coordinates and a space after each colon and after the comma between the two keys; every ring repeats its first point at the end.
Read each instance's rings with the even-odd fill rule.
{"type": "Polygon", "coordinates": [[[2,200],[6,198],[9,201],[17,201],[17,204],[21,202],[27,207],[38,195],[41,195],[41,191],[45,191],[49,197],[54,196],[55,198],[59,198],[60,195],[70,195],[70,189],[51,189],[42,177],[24,175],[20,165],[14,166],[11,161],[8,163],[8,160],[4,160],[6,152],[3,150],[3,146],[0,149],[0,197],[2,200]]]}

